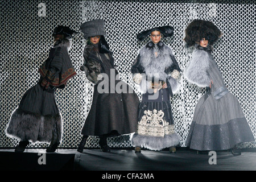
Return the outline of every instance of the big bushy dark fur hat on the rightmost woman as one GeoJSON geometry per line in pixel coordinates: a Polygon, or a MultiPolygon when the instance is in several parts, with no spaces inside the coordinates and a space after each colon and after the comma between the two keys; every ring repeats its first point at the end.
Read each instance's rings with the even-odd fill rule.
{"type": "Polygon", "coordinates": [[[208,44],[213,45],[222,35],[222,32],[212,22],[195,19],[185,29],[185,38],[183,40],[188,47],[194,46],[195,43],[199,43],[203,38],[208,40],[208,44]]]}

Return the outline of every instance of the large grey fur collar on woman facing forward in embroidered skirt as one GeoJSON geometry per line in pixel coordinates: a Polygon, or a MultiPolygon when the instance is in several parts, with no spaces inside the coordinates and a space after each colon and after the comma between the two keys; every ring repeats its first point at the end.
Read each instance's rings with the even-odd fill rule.
{"type": "Polygon", "coordinates": [[[173,64],[170,56],[173,55],[172,49],[163,42],[154,44],[150,41],[141,48],[139,54],[145,73],[165,81],[168,75],[164,71],[173,64]],[[155,56],[155,52],[158,52],[158,56],[155,56]]]}

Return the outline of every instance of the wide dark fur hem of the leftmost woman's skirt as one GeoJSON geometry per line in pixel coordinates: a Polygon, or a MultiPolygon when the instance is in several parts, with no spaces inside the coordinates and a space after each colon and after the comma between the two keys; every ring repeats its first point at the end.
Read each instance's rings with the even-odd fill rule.
{"type": "Polygon", "coordinates": [[[40,115],[21,109],[14,110],[5,131],[7,137],[36,142],[51,142],[52,134],[61,142],[62,119],[60,114],[40,115]]]}

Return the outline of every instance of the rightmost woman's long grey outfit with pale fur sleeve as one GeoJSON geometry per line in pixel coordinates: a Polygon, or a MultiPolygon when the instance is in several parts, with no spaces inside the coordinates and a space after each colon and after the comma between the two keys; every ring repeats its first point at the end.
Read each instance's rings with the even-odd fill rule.
{"type": "Polygon", "coordinates": [[[228,91],[208,48],[196,46],[184,71],[192,84],[213,84],[198,101],[186,145],[194,150],[227,150],[238,143],[254,141],[237,98],[228,91]]]}

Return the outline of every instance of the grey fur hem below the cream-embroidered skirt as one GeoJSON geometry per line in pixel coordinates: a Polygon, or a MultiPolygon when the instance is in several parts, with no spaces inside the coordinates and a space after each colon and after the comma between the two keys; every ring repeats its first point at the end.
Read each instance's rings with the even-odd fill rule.
{"type": "Polygon", "coordinates": [[[135,133],[131,137],[131,144],[134,147],[144,147],[149,150],[163,150],[167,147],[179,145],[180,137],[176,133],[164,137],[148,137],[135,133]]]}

